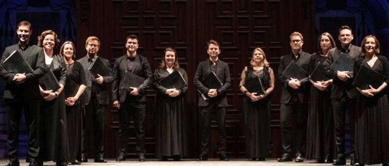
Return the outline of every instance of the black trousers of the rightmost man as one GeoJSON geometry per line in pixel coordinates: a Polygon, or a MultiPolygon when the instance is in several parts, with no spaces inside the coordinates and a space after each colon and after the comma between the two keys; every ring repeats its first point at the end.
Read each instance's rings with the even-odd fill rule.
{"type": "Polygon", "coordinates": [[[355,105],[356,99],[350,99],[347,95],[343,96],[341,99],[332,99],[332,108],[334,111],[334,120],[335,120],[335,135],[336,135],[336,150],[338,157],[345,156],[345,115],[346,112],[349,114],[350,121],[350,157],[354,157],[354,130],[355,130],[355,105]]]}

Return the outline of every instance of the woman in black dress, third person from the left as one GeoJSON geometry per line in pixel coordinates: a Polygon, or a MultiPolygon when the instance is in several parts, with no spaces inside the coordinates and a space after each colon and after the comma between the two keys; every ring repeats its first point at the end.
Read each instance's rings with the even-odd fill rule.
{"type": "MultiPolygon", "coordinates": [[[[84,68],[82,67],[81,63],[73,60],[75,57],[74,48],[75,47],[72,41],[66,41],[61,46],[60,55],[65,59],[67,85],[70,81],[74,81],[74,83],[80,85],[76,94],[65,96],[67,97],[65,99],[65,104],[69,142],[68,163],[71,163],[72,165],[79,165],[81,164],[81,118],[82,110],[84,108],[82,93],[86,88],[86,79],[84,68]]],[[[72,89],[67,88],[68,86],[65,86],[65,92],[72,91],[72,89]]]]}

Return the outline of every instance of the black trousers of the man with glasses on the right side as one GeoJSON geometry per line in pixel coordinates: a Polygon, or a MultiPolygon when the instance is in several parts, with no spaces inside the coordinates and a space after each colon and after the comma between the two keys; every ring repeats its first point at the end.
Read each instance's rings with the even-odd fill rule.
{"type": "Polygon", "coordinates": [[[281,138],[284,152],[292,152],[292,125],[297,125],[296,151],[305,153],[307,140],[308,104],[301,103],[297,96],[293,96],[288,104],[280,106],[281,138]]]}

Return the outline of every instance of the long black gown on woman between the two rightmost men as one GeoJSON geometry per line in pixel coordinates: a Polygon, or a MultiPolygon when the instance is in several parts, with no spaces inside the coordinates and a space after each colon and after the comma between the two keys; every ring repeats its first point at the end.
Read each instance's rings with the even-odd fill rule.
{"type": "MultiPolygon", "coordinates": [[[[317,53],[312,54],[310,72],[326,58],[317,53]]],[[[307,159],[333,159],[336,147],[331,86],[324,91],[311,86],[307,124],[307,159]]]]}

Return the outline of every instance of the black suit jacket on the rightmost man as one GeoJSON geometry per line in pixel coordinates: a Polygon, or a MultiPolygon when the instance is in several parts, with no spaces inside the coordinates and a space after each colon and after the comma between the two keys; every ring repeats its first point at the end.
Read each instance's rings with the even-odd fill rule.
{"type": "MultiPolygon", "coordinates": [[[[350,46],[349,58],[354,62],[361,56],[361,52],[359,52],[359,48],[355,45],[350,46]]],[[[347,96],[351,99],[355,99],[357,97],[357,89],[351,85],[353,78],[350,78],[347,81],[342,81],[338,78],[337,71],[331,69],[331,64],[338,59],[341,53],[341,49],[331,48],[328,52],[328,57],[326,61],[324,61],[324,65],[326,66],[325,74],[328,78],[333,79],[333,86],[331,89],[331,99],[340,99],[343,96],[343,92],[347,93],[347,96]]],[[[356,74],[356,73],[355,73],[356,74]]],[[[354,75],[355,75],[354,74],[354,75]]]]}

